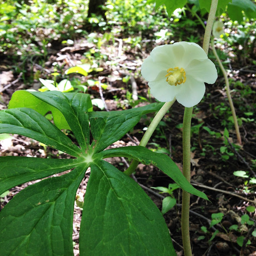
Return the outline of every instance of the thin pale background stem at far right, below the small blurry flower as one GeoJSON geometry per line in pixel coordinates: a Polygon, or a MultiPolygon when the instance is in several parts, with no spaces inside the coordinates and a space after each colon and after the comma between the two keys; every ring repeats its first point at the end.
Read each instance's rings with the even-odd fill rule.
{"type": "Polygon", "coordinates": [[[228,76],[227,76],[226,70],[225,70],[224,66],[222,65],[222,62],[221,62],[221,60],[220,60],[220,58],[219,58],[219,56],[216,52],[216,49],[214,47],[214,40],[212,40],[212,51],[214,53],[215,58],[218,61],[218,64],[220,65],[220,69],[221,69],[221,71],[223,73],[223,76],[225,78],[228,102],[230,104],[230,108],[231,108],[231,111],[232,111],[232,116],[233,116],[233,119],[234,119],[234,126],[235,126],[235,129],[236,129],[236,138],[237,138],[238,143],[240,145],[242,145],[242,140],[241,140],[241,136],[240,136],[240,132],[239,132],[239,126],[238,126],[238,122],[237,122],[237,118],[236,118],[236,110],[234,108],[234,104],[233,104],[233,101],[232,101],[232,98],[231,98],[231,95],[230,95],[228,76]]]}

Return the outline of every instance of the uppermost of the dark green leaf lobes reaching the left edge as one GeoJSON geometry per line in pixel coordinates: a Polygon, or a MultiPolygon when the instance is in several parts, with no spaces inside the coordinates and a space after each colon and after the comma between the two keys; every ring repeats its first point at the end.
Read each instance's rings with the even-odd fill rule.
{"type": "Polygon", "coordinates": [[[71,156],[80,156],[80,149],[54,124],[31,108],[0,111],[0,133],[14,133],[33,138],[71,156]]]}

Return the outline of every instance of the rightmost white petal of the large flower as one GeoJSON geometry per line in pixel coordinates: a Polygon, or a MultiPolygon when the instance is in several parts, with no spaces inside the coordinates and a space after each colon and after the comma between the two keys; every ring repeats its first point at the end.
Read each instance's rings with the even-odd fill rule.
{"type": "Polygon", "coordinates": [[[214,63],[209,60],[192,60],[186,68],[187,76],[193,76],[200,82],[214,84],[218,78],[217,70],[214,63]]]}

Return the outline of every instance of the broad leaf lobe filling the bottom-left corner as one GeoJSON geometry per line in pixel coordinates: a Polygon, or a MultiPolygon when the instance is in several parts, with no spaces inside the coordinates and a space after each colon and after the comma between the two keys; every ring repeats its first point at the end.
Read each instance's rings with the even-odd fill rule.
{"type": "Polygon", "coordinates": [[[1,256],[73,255],[74,199],[86,169],[30,185],[8,202],[0,212],[1,256]]]}

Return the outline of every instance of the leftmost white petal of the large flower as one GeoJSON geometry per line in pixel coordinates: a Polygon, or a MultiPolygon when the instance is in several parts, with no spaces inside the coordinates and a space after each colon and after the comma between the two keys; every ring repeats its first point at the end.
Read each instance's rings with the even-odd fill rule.
{"type": "Polygon", "coordinates": [[[160,62],[154,62],[152,56],[148,56],[141,65],[141,74],[147,81],[153,81],[158,76],[159,72],[164,71],[165,74],[168,69],[168,65],[160,62]]]}

